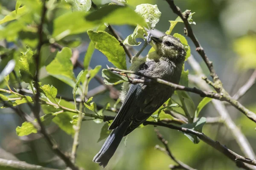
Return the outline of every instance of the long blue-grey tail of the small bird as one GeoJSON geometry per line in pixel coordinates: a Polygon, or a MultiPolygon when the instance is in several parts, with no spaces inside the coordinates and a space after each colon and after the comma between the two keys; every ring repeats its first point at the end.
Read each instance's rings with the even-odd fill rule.
{"type": "Polygon", "coordinates": [[[121,125],[112,130],[99,153],[94,156],[94,162],[99,163],[99,165],[103,167],[107,166],[108,161],[115,153],[129,125],[130,122],[122,122],[121,125]]]}

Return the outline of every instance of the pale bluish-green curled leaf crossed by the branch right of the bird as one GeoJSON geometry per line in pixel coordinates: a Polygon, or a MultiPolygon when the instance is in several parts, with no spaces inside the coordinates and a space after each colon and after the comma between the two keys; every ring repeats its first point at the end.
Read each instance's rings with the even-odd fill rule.
{"type": "MultiPolygon", "coordinates": [[[[206,123],[206,118],[205,117],[201,117],[200,119],[198,119],[196,122],[192,123],[192,124],[183,124],[181,125],[181,127],[185,127],[188,129],[192,129],[198,132],[202,132],[203,126],[206,123]]],[[[189,134],[189,133],[183,133],[185,136],[187,136],[189,138],[189,140],[191,140],[194,144],[198,144],[200,139],[193,135],[193,134],[189,134]]]]}

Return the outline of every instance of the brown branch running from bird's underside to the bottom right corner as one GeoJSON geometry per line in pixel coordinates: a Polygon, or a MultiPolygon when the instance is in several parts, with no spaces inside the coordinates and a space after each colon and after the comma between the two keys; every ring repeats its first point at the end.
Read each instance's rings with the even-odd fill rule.
{"type": "MultiPolygon", "coordinates": [[[[168,127],[170,129],[180,130],[184,133],[194,134],[194,135],[198,136],[198,138],[200,138],[202,141],[204,141],[205,143],[210,145],[211,147],[215,148],[219,152],[226,155],[229,159],[234,161],[238,167],[248,169],[250,167],[247,164],[251,164],[251,165],[256,166],[256,160],[255,159],[245,158],[245,157],[233,152],[232,150],[228,149],[226,146],[222,145],[218,141],[213,141],[208,136],[206,136],[204,133],[201,133],[201,132],[198,132],[198,131],[195,131],[195,130],[192,130],[192,129],[187,129],[185,127],[178,127],[178,126],[171,125],[171,124],[167,125],[167,124],[161,123],[161,122],[145,121],[143,123],[143,125],[154,125],[154,126],[168,127]],[[244,164],[244,163],[247,163],[247,164],[244,164]]],[[[250,170],[253,170],[253,169],[250,168],[250,170]]]]}

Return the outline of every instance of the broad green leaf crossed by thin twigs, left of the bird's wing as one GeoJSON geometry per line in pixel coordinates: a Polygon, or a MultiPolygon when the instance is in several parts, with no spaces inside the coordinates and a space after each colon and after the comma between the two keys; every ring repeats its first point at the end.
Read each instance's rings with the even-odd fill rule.
{"type": "MultiPolygon", "coordinates": [[[[66,108],[70,109],[75,109],[75,105],[71,102],[67,102],[64,99],[61,99],[61,101],[59,101],[59,99],[56,100],[60,103],[61,106],[65,106],[66,108]]],[[[53,115],[55,115],[55,112],[61,111],[61,109],[57,109],[50,105],[41,105],[41,107],[45,114],[53,113],[53,115]]],[[[73,116],[75,115],[77,114],[72,112],[59,113],[52,119],[52,122],[58,125],[58,127],[64,130],[67,134],[74,135],[75,130],[73,129],[73,124],[71,123],[71,121],[73,120],[73,116]]]]}

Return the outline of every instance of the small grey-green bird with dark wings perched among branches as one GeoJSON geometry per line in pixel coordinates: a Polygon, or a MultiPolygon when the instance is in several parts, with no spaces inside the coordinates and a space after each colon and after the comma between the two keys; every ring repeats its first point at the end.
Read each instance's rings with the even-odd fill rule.
{"type": "MultiPolygon", "coordinates": [[[[130,70],[178,84],[186,56],[183,44],[171,35],[164,35],[161,38],[151,37],[151,39],[156,45],[156,51],[133,61],[130,70]]],[[[137,75],[131,76],[144,79],[137,75]]],[[[157,111],[174,91],[171,86],[157,82],[148,84],[125,82],[120,95],[122,106],[108,128],[112,132],[93,161],[103,167],[107,166],[122,138],[157,111]]]]}

